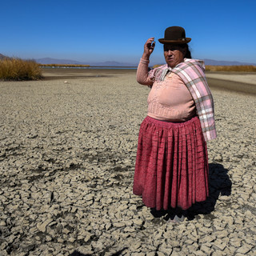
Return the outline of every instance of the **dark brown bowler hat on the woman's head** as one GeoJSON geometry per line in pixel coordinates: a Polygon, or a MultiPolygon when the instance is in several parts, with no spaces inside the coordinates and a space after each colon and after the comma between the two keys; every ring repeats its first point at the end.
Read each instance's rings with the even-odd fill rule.
{"type": "Polygon", "coordinates": [[[187,43],[191,38],[186,38],[186,32],[181,26],[170,26],[166,28],[165,38],[158,39],[161,43],[187,43]]]}

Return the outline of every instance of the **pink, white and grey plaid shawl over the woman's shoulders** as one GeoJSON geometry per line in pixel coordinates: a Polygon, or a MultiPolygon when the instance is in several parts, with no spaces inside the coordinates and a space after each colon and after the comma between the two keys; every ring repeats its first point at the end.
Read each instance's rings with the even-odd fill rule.
{"type": "Polygon", "coordinates": [[[150,78],[155,81],[162,81],[166,72],[170,70],[178,74],[186,84],[190,94],[194,98],[198,118],[201,122],[202,134],[206,141],[217,137],[214,122],[214,99],[204,74],[204,64],[200,60],[185,58],[184,62],[179,63],[173,69],[167,64],[150,70],[150,78]]]}

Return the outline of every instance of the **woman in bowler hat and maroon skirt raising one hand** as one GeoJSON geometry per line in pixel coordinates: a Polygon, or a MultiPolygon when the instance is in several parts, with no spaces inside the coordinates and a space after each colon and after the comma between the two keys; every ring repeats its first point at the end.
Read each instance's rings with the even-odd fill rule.
{"type": "Polygon", "coordinates": [[[166,65],[148,72],[155,45],[149,38],[137,70],[137,81],[151,90],[138,135],[134,194],[150,208],[176,213],[209,195],[206,141],[216,138],[213,98],[203,62],[191,58],[190,40],[182,27],[168,27],[158,40],[166,65]]]}

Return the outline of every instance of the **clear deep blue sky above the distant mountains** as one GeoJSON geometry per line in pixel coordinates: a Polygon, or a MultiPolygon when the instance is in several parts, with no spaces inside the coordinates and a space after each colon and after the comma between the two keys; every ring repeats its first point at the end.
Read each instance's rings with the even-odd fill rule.
{"type": "Polygon", "coordinates": [[[183,26],[193,58],[256,63],[256,1],[1,0],[0,54],[138,63],[168,26],[183,26]]]}

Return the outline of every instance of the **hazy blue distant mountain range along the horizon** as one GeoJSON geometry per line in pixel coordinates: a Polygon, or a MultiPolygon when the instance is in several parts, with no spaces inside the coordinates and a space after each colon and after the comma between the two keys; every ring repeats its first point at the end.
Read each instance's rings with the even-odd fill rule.
{"type": "MultiPolygon", "coordinates": [[[[0,54],[0,59],[8,58],[3,54],[0,54]]],[[[125,62],[78,62],[70,59],[57,59],[57,58],[37,58],[34,59],[40,64],[77,64],[77,65],[90,65],[90,66],[138,66],[138,63],[125,63],[125,62]]],[[[229,62],[229,61],[216,61],[213,59],[204,59],[206,65],[212,66],[235,66],[235,65],[253,65],[256,63],[248,62],[229,62]]],[[[161,63],[159,63],[161,64],[161,63]]]]}

